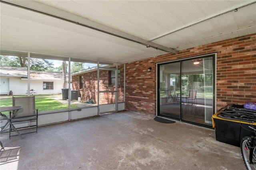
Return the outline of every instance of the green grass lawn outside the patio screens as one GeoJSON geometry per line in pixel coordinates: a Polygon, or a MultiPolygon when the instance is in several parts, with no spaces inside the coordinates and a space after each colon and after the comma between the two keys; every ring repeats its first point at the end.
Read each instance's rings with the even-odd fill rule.
{"type": "MultiPolygon", "coordinates": [[[[20,96],[15,96],[20,97],[20,96]]],[[[62,104],[59,101],[56,101],[55,99],[49,97],[49,95],[36,95],[36,109],[38,109],[38,112],[43,111],[55,111],[55,110],[61,110],[61,109],[68,109],[68,104],[62,104]]],[[[12,106],[12,97],[0,99],[0,106],[12,106]]],[[[71,108],[76,108],[77,106],[74,104],[71,104],[71,108]]]]}

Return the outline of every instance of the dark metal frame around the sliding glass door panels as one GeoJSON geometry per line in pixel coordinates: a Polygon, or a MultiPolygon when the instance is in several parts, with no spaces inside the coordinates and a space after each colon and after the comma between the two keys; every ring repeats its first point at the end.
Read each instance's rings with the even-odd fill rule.
{"type": "MultiPolygon", "coordinates": [[[[212,69],[212,78],[213,78],[213,87],[212,87],[212,93],[213,93],[213,99],[212,99],[212,111],[213,114],[216,113],[216,56],[217,53],[210,53],[210,54],[206,54],[206,55],[198,55],[198,56],[194,56],[194,57],[189,57],[189,58],[185,58],[185,59],[176,59],[176,60],[171,60],[171,61],[166,61],[166,62],[162,62],[162,63],[156,63],[156,116],[160,116],[160,117],[165,117],[163,115],[160,114],[160,65],[165,65],[165,64],[169,64],[169,63],[177,63],[180,62],[180,75],[182,73],[182,61],[188,61],[188,60],[192,60],[192,59],[199,59],[199,58],[206,58],[206,57],[212,57],[212,64],[213,64],[213,69],[212,69]]],[[[180,83],[180,89],[181,89],[181,83],[180,83]]],[[[181,96],[180,96],[180,100],[181,100],[181,96]]],[[[169,117],[166,117],[169,118],[169,117]]],[[[180,103],[180,118],[176,118],[176,117],[170,117],[171,119],[176,119],[179,121],[184,121],[190,124],[194,124],[194,125],[199,125],[202,127],[208,127],[211,128],[212,126],[210,125],[204,125],[204,124],[200,124],[200,123],[196,123],[196,122],[192,122],[192,121],[186,121],[182,119],[182,105],[180,103]]]]}

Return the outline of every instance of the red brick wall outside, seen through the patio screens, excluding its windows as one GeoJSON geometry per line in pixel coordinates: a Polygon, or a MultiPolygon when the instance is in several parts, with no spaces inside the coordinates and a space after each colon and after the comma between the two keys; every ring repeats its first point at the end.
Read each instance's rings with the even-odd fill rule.
{"type": "MultiPolygon", "coordinates": [[[[118,86],[118,102],[124,101],[124,65],[119,65],[120,85],[118,86]]],[[[100,70],[100,91],[114,91],[115,86],[109,85],[108,71],[100,70]]],[[[93,99],[97,103],[97,71],[72,76],[72,89],[78,90],[82,101],[93,99]],[[79,77],[83,76],[83,88],[79,89],[79,77]]],[[[115,93],[100,93],[100,104],[115,103],[115,93]]]]}

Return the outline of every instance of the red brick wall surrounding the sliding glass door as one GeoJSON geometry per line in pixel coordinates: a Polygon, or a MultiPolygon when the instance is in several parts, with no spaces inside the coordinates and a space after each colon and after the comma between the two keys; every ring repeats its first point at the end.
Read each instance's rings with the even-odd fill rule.
{"type": "Polygon", "coordinates": [[[156,63],[209,53],[217,53],[217,110],[231,103],[256,102],[256,34],[252,34],[127,63],[126,110],[156,114],[156,63]]]}

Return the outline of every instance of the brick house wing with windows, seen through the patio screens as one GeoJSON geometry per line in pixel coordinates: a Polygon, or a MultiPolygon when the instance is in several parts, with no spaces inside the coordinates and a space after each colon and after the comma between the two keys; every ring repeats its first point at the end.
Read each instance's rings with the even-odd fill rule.
{"type": "MultiPolygon", "coordinates": [[[[86,69],[72,75],[72,89],[78,90],[83,101],[92,99],[97,103],[97,67],[86,69]]],[[[100,105],[115,103],[114,71],[100,70],[100,105]]],[[[124,65],[118,66],[118,102],[124,101],[124,65]]]]}

